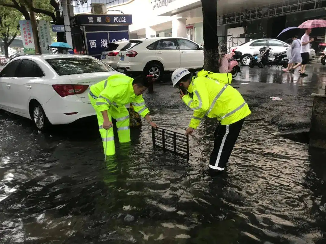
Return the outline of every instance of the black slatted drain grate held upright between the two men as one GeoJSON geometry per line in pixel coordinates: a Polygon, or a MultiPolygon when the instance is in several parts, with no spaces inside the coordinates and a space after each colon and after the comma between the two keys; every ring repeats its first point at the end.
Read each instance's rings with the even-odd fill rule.
{"type": "Polygon", "coordinates": [[[189,160],[189,136],[157,127],[152,128],[152,139],[154,147],[189,160]]]}

